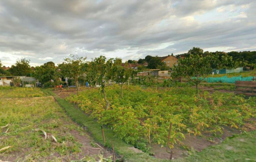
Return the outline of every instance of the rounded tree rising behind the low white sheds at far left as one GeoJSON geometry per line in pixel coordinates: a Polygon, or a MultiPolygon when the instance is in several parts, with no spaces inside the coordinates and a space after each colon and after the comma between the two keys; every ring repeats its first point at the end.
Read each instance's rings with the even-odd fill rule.
{"type": "Polygon", "coordinates": [[[32,70],[29,65],[30,60],[25,58],[17,59],[15,65],[12,65],[9,69],[10,73],[15,76],[30,76],[32,70]]]}

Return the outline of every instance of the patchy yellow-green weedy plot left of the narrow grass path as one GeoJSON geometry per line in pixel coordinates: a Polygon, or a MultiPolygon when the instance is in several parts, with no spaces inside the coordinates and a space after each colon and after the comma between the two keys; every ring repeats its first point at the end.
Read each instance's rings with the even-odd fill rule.
{"type": "Polygon", "coordinates": [[[6,95],[0,98],[0,126],[9,126],[0,128],[0,149],[11,147],[0,152],[1,160],[62,161],[80,153],[82,144],[70,130],[84,130],[74,124],[52,96],[37,88],[4,88],[2,92],[6,95]],[[47,139],[36,129],[44,130],[47,139]]]}

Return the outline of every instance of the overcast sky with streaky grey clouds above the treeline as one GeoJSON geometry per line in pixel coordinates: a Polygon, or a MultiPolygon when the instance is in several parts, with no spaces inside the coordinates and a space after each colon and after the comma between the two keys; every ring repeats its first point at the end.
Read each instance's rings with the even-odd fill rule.
{"type": "Polygon", "coordinates": [[[256,0],[0,0],[0,60],[256,50],[256,0]]]}

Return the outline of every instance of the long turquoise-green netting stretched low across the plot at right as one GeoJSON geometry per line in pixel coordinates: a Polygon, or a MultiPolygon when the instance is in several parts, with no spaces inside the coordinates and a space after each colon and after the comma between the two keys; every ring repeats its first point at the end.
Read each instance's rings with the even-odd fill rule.
{"type": "MultiPolygon", "coordinates": [[[[192,79],[196,79],[196,77],[192,77],[192,79]]],[[[202,77],[200,77],[200,79],[202,79],[202,77]]],[[[235,83],[235,81],[253,81],[253,77],[242,77],[242,75],[238,76],[238,77],[230,77],[228,78],[227,76],[223,76],[223,77],[209,77],[209,78],[205,78],[203,79],[203,81],[207,82],[207,83],[235,83]]]]}

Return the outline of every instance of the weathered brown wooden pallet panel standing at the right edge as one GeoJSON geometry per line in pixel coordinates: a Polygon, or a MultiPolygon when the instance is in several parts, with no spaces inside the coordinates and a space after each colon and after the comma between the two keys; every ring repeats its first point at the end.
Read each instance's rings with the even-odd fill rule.
{"type": "Polygon", "coordinates": [[[253,81],[236,81],[236,94],[244,94],[247,96],[256,96],[256,82],[253,81]]]}

